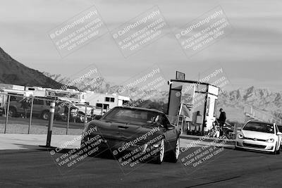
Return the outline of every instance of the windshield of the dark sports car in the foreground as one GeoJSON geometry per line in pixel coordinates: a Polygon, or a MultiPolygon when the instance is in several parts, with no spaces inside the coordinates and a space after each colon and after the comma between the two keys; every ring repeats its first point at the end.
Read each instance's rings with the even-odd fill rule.
{"type": "Polygon", "coordinates": [[[103,120],[114,120],[122,123],[147,123],[154,122],[154,119],[159,113],[154,111],[145,111],[135,108],[114,108],[106,113],[103,120]]]}

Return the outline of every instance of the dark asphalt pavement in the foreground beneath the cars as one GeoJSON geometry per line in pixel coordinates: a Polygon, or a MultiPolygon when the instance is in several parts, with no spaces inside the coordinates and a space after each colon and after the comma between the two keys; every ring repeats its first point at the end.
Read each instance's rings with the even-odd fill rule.
{"type": "Polygon", "coordinates": [[[252,151],[224,149],[195,168],[178,161],[144,163],[135,170],[121,170],[111,156],[102,155],[63,175],[47,149],[0,153],[0,187],[281,187],[281,155],[252,151]]]}

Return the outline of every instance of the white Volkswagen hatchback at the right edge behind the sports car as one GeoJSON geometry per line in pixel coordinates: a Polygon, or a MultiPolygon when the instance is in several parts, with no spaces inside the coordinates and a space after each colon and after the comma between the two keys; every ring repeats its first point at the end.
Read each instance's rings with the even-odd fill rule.
{"type": "Polygon", "coordinates": [[[235,149],[252,149],[280,153],[281,135],[277,125],[250,120],[240,130],[235,142],[235,149]]]}

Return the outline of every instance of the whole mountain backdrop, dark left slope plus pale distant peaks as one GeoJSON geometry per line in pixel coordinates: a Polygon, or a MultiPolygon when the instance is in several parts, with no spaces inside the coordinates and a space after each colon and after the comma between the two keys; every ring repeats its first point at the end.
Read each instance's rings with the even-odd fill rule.
{"type": "MultiPolygon", "coordinates": [[[[19,63],[11,58],[0,48],[0,82],[4,84],[18,84],[27,86],[42,86],[60,88],[71,79],[46,72],[39,72],[19,63]]],[[[87,80],[85,80],[87,81],[87,80]]],[[[88,80],[89,82],[91,80],[88,80]]],[[[73,85],[78,87],[78,85],[73,85]]],[[[121,85],[106,82],[103,79],[102,85],[96,92],[111,93],[116,91],[121,85]]],[[[136,88],[133,88],[133,90],[136,88]]],[[[156,96],[144,102],[144,107],[159,108],[166,111],[168,101],[168,91],[162,91],[156,96]]],[[[247,87],[245,89],[235,89],[233,91],[221,92],[219,96],[218,108],[223,108],[229,120],[244,122],[243,113],[246,105],[254,106],[264,113],[282,118],[282,92],[273,92],[269,89],[247,87]]]]}

